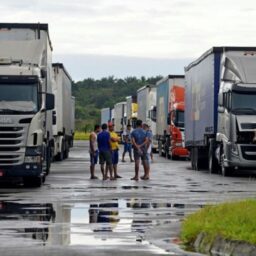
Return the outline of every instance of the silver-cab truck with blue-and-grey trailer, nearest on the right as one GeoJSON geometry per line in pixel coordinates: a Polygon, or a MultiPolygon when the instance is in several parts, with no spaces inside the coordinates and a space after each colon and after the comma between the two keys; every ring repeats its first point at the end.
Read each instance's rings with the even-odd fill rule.
{"type": "Polygon", "coordinates": [[[194,170],[256,168],[256,47],[213,47],[185,68],[185,144],[194,170]]]}

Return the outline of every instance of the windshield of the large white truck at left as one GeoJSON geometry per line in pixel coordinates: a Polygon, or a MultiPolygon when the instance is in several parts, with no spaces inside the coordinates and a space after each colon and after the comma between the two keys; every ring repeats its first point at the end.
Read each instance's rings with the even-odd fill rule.
{"type": "Polygon", "coordinates": [[[36,113],[37,84],[0,84],[0,114],[36,113]]]}

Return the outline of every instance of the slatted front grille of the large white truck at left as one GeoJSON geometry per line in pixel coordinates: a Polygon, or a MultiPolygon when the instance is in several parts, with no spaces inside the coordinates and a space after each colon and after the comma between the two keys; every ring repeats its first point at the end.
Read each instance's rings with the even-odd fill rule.
{"type": "Polygon", "coordinates": [[[12,166],[22,163],[24,152],[25,128],[0,127],[0,166],[12,166]]]}

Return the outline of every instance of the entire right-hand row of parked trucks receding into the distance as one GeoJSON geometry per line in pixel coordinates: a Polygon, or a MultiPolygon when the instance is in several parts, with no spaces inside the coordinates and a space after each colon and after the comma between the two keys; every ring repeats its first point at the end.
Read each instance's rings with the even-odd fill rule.
{"type": "Polygon", "coordinates": [[[194,170],[223,176],[255,170],[256,47],[213,47],[184,76],[146,85],[101,114],[119,133],[137,119],[147,122],[153,150],[190,158],[194,170]]]}

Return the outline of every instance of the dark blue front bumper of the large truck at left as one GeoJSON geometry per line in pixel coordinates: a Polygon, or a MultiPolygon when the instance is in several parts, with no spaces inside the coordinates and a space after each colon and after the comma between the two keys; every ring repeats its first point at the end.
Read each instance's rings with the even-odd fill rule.
{"type": "Polygon", "coordinates": [[[41,164],[22,164],[0,167],[0,179],[8,177],[40,177],[43,176],[41,164]]]}

